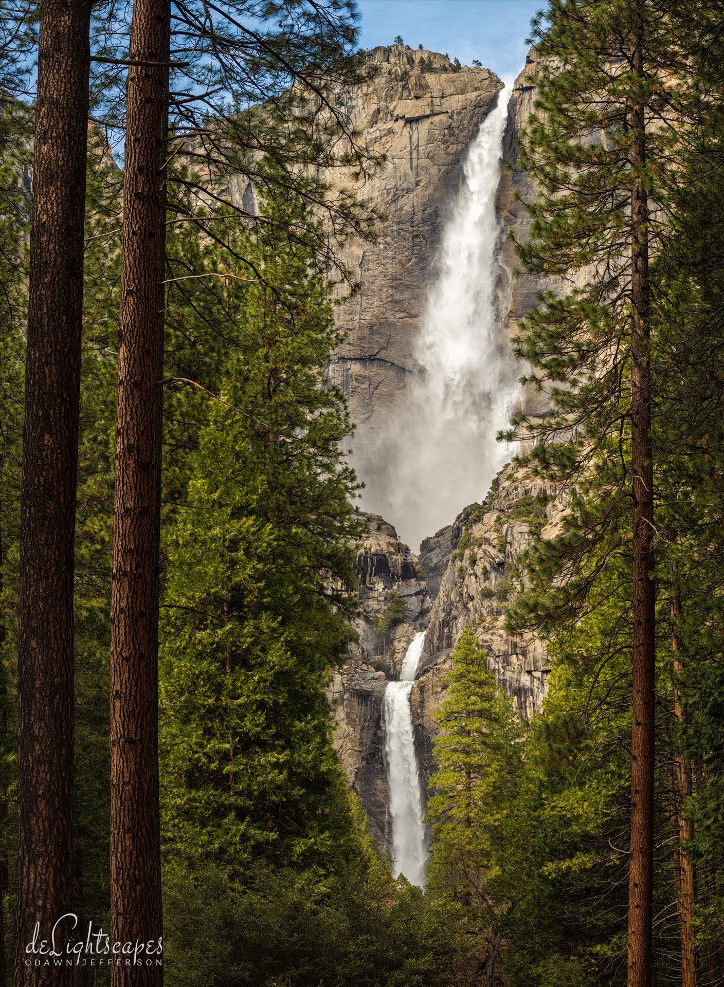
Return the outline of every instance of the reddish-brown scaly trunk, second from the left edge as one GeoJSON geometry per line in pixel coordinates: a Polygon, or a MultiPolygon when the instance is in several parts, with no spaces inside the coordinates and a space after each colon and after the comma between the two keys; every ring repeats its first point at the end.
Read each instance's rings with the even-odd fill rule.
{"type": "MultiPolygon", "coordinates": [[[[158,604],[165,155],[170,0],[135,0],[123,169],[119,395],[111,588],[111,923],[116,942],[161,936],[158,604]]],[[[114,987],[162,967],[114,966],[114,987]]]]}

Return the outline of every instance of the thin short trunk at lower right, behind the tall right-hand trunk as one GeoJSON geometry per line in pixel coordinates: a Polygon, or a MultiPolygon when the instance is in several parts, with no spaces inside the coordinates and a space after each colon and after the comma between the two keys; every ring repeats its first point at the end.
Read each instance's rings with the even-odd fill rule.
{"type": "MultiPolygon", "coordinates": [[[[674,688],[674,714],[682,726],[684,726],[684,707],[682,706],[682,696],[679,689],[679,680],[684,670],[682,665],[682,655],[679,647],[679,636],[677,624],[679,621],[681,604],[675,595],[672,603],[672,622],[674,630],[672,632],[672,650],[674,652],[674,674],[677,684],[674,688]]],[[[682,987],[696,987],[696,951],[693,939],[693,906],[696,898],[696,881],[691,858],[688,855],[686,844],[693,837],[693,824],[684,814],[684,804],[691,796],[691,768],[687,764],[684,754],[677,754],[677,821],[679,823],[679,849],[677,851],[679,863],[679,934],[682,956],[682,987]]]]}

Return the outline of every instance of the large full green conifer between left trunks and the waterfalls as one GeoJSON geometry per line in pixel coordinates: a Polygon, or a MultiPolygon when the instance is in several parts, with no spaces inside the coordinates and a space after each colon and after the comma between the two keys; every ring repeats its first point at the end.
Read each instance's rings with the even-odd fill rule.
{"type": "MultiPolygon", "coordinates": [[[[300,203],[284,210],[300,222],[300,203]]],[[[324,381],[328,288],[311,245],[282,250],[278,230],[239,244],[264,281],[226,272],[236,344],[189,462],[163,604],[165,842],[237,880],[264,860],[323,872],[347,839],[324,683],[350,641],[342,587],[362,532],[340,447],[351,424],[324,381]]]]}

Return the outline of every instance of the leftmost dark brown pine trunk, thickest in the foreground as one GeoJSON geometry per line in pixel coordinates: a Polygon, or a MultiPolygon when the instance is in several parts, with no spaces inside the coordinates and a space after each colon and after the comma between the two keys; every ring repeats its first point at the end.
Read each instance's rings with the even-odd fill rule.
{"type": "MultiPolygon", "coordinates": [[[[78,469],[89,0],[40,0],[18,604],[15,985],[69,984],[25,965],[73,904],[73,567],[78,469]]],[[[69,932],[69,929],[63,929],[69,932]]]]}

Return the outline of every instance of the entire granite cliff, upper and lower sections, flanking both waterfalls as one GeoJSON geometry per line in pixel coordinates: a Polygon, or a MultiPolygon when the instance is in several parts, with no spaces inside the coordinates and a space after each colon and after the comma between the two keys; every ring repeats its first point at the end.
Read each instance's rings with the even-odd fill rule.
{"type": "MultiPolygon", "coordinates": [[[[362,432],[358,441],[367,450],[358,456],[362,479],[364,469],[374,469],[375,432],[394,418],[404,401],[408,375],[416,369],[413,344],[446,203],[459,183],[466,147],[501,88],[492,73],[480,68],[455,71],[444,56],[428,51],[394,45],[376,48],[368,57],[380,71],[360,90],[341,98],[348,101],[369,146],[385,155],[383,168],[365,189],[385,219],[378,244],[348,248],[346,260],[361,289],[341,307],[339,324],[348,336],[330,370],[362,432]]],[[[517,135],[532,109],[537,70],[531,52],[509,105],[503,151],[510,165],[516,163],[517,135]]],[[[526,175],[504,172],[497,207],[515,239],[524,239],[528,229],[519,196],[525,199],[531,193],[526,175]]],[[[513,270],[510,239],[503,251],[504,263],[513,270]]],[[[509,331],[541,286],[535,277],[514,276],[509,331]]],[[[536,411],[530,396],[526,408],[536,411]]],[[[411,708],[426,788],[433,771],[434,718],[442,679],[450,650],[466,624],[485,647],[490,669],[513,697],[519,714],[528,718],[540,709],[548,672],[545,648],[533,640],[510,639],[504,610],[511,591],[510,570],[531,528],[542,529],[544,535],[554,532],[564,510],[565,502],[554,490],[515,478],[507,468],[485,499],[423,541],[419,557],[400,543],[391,525],[372,518],[372,531],[358,560],[360,641],[335,679],[333,701],[337,749],[381,847],[390,847],[382,718],[387,681],[397,677],[405,649],[425,629],[411,708]]]]}

